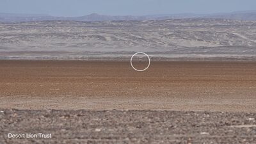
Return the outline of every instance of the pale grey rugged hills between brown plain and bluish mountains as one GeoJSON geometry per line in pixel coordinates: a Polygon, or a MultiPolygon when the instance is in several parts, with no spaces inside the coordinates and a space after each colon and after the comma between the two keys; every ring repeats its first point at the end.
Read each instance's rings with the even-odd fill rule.
{"type": "Polygon", "coordinates": [[[0,58],[106,59],[256,56],[256,22],[220,19],[36,21],[0,24],[0,58]]]}

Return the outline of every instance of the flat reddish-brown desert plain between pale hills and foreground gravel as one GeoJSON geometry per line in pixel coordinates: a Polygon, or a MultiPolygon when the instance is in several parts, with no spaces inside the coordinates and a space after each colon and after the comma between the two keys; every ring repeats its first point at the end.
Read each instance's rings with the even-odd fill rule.
{"type": "Polygon", "coordinates": [[[256,62],[1,60],[0,108],[256,112],[256,62]]]}

